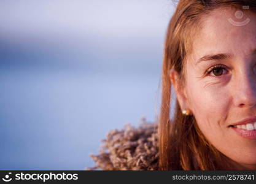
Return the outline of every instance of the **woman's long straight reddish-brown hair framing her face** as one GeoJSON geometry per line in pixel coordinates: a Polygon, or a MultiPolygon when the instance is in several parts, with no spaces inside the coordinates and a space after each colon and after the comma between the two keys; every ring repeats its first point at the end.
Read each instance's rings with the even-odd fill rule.
{"type": "Polygon", "coordinates": [[[159,122],[160,170],[231,169],[226,156],[206,140],[193,115],[182,115],[176,101],[174,119],[170,120],[171,80],[174,69],[184,85],[185,59],[192,52],[192,36],[202,28],[201,19],[219,7],[249,6],[256,10],[255,0],[180,0],[169,22],[162,68],[161,112],[159,122]]]}

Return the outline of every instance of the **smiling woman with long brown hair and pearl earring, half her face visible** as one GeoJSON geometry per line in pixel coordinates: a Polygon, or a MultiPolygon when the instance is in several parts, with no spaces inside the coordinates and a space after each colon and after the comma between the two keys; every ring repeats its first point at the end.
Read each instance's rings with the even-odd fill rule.
{"type": "MultiPolygon", "coordinates": [[[[256,170],[255,122],[256,1],[180,0],[165,42],[159,157],[147,151],[144,161],[159,170],[256,170]],[[177,101],[170,121],[171,84],[177,101]]],[[[130,151],[126,161],[139,161],[138,145],[151,141],[148,150],[155,148],[143,136],[142,144],[123,150],[130,151]]],[[[120,153],[111,154],[109,164],[120,153]]],[[[117,163],[109,169],[122,169],[117,163]]]]}

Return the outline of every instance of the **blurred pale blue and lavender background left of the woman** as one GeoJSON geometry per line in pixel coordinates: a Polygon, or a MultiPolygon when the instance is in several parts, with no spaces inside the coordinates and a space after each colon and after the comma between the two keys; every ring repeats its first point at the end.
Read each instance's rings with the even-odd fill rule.
{"type": "Polygon", "coordinates": [[[169,0],[1,0],[1,170],[82,170],[160,101],[169,0]]]}

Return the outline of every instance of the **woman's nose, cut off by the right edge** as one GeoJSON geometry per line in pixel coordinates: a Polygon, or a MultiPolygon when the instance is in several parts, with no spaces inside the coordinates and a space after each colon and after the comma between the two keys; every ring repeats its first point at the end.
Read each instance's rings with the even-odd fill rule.
{"type": "Polygon", "coordinates": [[[236,78],[233,101],[236,107],[256,107],[256,79],[252,75],[242,74],[236,78]]]}

